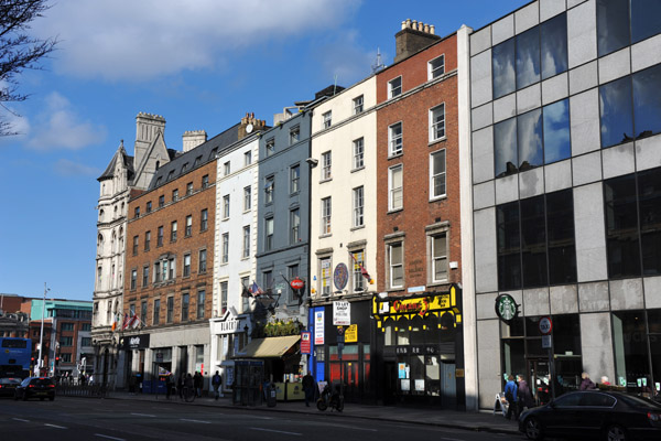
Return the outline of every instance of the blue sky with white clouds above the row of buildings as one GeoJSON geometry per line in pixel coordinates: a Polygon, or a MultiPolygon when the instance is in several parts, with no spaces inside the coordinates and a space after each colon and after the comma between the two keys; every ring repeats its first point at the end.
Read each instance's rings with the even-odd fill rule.
{"type": "Polygon", "coordinates": [[[0,107],[18,136],[0,137],[0,293],[91,300],[97,178],[120,140],[133,154],[136,116],[210,139],[246,112],[273,115],[394,56],[407,19],[448,35],[529,0],[58,0],[32,22],[57,37],[42,69],[18,80],[22,103],[0,107]],[[9,111],[8,111],[9,110],[9,111]]]}

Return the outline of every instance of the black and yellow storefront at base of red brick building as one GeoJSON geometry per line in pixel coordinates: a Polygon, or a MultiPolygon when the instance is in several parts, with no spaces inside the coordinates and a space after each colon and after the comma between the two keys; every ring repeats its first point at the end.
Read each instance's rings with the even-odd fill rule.
{"type": "Polygon", "coordinates": [[[372,299],[379,400],[465,407],[462,291],[372,299]]]}

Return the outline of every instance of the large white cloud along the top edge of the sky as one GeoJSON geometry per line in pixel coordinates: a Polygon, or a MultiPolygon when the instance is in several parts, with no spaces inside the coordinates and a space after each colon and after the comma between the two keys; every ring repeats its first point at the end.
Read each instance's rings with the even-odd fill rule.
{"type": "Polygon", "coordinates": [[[34,30],[58,35],[59,73],[106,79],[149,79],[208,68],[225,52],[284,40],[340,23],[351,0],[67,0],[34,30]]]}

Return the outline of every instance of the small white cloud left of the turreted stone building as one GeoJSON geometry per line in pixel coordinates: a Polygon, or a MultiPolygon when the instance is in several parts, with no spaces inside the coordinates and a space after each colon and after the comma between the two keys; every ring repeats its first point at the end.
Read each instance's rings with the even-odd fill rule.
{"type": "Polygon", "coordinates": [[[79,150],[105,140],[107,130],[80,121],[71,103],[56,92],[45,99],[45,107],[32,125],[26,146],[34,150],[79,150]]]}

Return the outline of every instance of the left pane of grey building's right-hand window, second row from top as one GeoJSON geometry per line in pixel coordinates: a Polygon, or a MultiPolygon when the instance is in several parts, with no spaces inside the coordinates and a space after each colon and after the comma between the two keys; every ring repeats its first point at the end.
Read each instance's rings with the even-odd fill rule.
{"type": "Polygon", "coordinates": [[[599,87],[602,147],[633,139],[631,77],[627,76],[599,87]]]}

